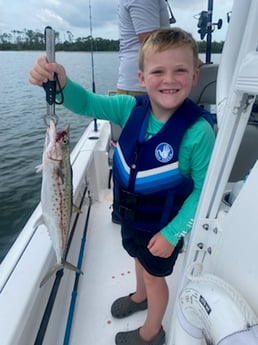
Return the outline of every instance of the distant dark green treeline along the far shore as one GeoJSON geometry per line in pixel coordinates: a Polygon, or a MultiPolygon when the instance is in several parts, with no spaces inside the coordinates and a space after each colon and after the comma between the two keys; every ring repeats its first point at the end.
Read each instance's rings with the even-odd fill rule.
{"type": "MultiPolygon", "coordinates": [[[[199,41],[200,53],[206,51],[206,41],[199,41]]],[[[212,53],[221,53],[223,42],[212,42],[212,53]]],[[[119,41],[92,36],[74,39],[70,31],[61,35],[56,32],[56,51],[118,51],[119,41]]],[[[0,50],[45,50],[44,33],[39,31],[12,30],[0,34],[0,50]]]]}

